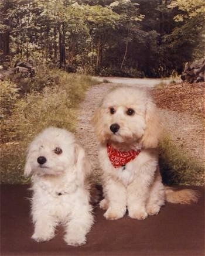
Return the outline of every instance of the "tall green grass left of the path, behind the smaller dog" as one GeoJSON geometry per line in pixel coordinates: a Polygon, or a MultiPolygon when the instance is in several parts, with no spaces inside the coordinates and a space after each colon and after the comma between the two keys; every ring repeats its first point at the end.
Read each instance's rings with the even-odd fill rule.
{"type": "MultiPolygon", "coordinates": [[[[9,84],[12,88],[13,97],[15,84],[8,81],[3,83],[5,87],[9,84]]],[[[97,81],[88,76],[44,67],[37,71],[35,81],[29,83],[30,88],[15,99],[10,113],[2,115],[1,183],[28,182],[23,177],[23,168],[29,142],[50,125],[74,132],[78,104],[83,100],[86,90],[97,81]]],[[[18,81],[16,87],[20,85],[18,81]]],[[[5,92],[8,93],[8,90],[5,92]]],[[[5,102],[6,97],[2,95],[5,102]]]]}

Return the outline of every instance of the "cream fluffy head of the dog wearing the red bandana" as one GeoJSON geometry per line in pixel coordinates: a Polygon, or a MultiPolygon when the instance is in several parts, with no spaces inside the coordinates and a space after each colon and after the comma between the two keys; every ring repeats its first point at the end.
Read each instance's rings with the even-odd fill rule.
{"type": "Polygon", "coordinates": [[[156,148],[161,131],[159,113],[143,90],[120,87],[111,91],[95,110],[92,122],[100,142],[156,148]]]}

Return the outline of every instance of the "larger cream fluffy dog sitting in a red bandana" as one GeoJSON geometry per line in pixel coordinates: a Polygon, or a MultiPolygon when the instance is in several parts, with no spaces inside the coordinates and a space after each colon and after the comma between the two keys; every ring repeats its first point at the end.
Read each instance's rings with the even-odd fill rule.
{"type": "Polygon", "coordinates": [[[172,203],[197,201],[193,190],[165,188],[158,168],[158,141],[162,125],[156,105],[145,91],[119,87],[111,91],[93,115],[100,143],[104,216],[116,220],[128,210],[143,220],[158,214],[165,199],[172,203]]]}

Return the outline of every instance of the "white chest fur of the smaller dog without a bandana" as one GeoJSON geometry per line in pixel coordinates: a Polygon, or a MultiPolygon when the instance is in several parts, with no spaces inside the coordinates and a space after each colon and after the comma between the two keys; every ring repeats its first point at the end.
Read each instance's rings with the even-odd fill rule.
{"type": "Polygon", "coordinates": [[[60,182],[36,178],[37,180],[34,180],[32,187],[33,211],[46,211],[57,222],[63,222],[69,216],[72,216],[74,209],[78,208],[80,210],[81,204],[88,205],[86,189],[78,186],[75,180],[69,180],[69,178],[66,179],[65,176],[60,182]]]}

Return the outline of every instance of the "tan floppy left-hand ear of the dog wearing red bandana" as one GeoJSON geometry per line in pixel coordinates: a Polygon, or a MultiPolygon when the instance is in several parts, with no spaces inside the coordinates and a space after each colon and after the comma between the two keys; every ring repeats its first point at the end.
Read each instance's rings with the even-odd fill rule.
{"type": "Polygon", "coordinates": [[[91,124],[93,124],[94,132],[98,138],[98,141],[100,142],[107,140],[103,123],[105,111],[106,110],[104,108],[98,107],[97,110],[94,111],[93,117],[91,118],[91,124]]]}

